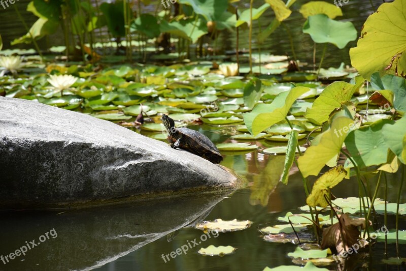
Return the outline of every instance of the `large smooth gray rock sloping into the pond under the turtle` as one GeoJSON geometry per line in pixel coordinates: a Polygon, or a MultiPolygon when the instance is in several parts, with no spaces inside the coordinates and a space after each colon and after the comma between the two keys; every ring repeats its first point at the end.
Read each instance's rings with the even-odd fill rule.
{"type": "Polygon", "coordinates": [[[219,165],[114,123],[0,97],[0,208],[232,188],[219,165]]]}

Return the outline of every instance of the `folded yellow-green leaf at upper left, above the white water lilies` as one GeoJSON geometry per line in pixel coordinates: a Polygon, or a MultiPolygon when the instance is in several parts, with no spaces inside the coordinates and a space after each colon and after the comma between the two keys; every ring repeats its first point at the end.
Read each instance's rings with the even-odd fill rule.
{"type": "Polygon", "coordinates": [[[31,43],[32,38],[39,40],[46,35],[54,34],[57,31],[58,27],[58,21],[48,20],[46,18],[39,18],[34,24],[32,24],[27,34],[13,40],[11,42],[11,45],[20,43],[31,43]]]}

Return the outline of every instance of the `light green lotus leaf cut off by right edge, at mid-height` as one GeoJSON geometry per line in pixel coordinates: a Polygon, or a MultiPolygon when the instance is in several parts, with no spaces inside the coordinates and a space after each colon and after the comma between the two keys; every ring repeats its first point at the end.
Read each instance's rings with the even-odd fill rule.
{"type": "Polygon", "coordinates": [[[406,161],[402,157],[403,152],[403,138],[406,135],[406,116],[396,121],[395,124],[387,123],[382,128],[382,134],[386,144],[397,155],[400,162],[403,164],[406,161]]]}

